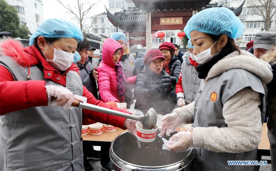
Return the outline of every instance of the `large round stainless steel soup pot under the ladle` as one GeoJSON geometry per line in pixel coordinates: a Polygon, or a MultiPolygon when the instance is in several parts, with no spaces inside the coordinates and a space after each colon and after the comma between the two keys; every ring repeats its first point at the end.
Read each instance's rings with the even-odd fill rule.
{"type": "MultiPolygon", "coordinates": [[[[169,137],[163,137],[169,139],[169,137]]],[[[154,142],[141,143],[125,132],[119,135],[109,151],[112,171],[188,171],[194,157],[194,150],[174,153],[162,150],[163,141],[156,136],[154,142]]]]}

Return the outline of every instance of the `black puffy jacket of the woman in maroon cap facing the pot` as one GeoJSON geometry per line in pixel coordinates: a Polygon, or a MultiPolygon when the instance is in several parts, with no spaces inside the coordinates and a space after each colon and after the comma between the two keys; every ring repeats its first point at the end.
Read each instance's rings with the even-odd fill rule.
{"type": "Polygon", "coordinates": [[[163,69],[159,75],[152,72],[148,66],[141,69],[140,74],[137,75],[134,85],[134,96],[137,98],[135,109],[141,110],[144,114],[150,109],[154,108],[157,114],[168,114],[172,112],[176,104],[176,98],[170,100],[174,93],[172,82],[169,74],[163,69]],[[147,92],[154,86],[158,85],[162,91],[160,95],[148,97],[147,92]]]}

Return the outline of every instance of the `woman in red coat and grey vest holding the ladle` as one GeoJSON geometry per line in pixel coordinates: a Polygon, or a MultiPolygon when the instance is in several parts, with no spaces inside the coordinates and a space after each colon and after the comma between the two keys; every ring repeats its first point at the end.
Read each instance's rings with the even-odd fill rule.
{"type": "Polygon", "coordinates": [[[134,120],[70,107],[76,99],[126,112],[96,100],[82,85],[72,63],[78,41],[80,29],[60,19],[43,22],[27,48],[2,40],[0,170],[84,170],[80,135],[87,118],[136,129],[134,120]]]}

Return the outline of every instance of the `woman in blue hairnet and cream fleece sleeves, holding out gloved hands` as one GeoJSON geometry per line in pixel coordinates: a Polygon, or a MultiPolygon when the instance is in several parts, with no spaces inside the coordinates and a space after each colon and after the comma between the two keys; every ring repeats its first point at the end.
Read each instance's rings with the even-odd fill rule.
{"type": "Polygon", "coordinates": [[[194,148],[192,170],[258,170],[255,165],[227,161],[257,160],[265,115],[262,85],[271,81],[271,67],[235,44],[243,24],[227,8],[196,13],[184,31],[194,46],[196,70],[203,80],[195,101],[163,117],[159,136],[193,123],[192,132],[178,132],[165,144],[174,152],[194,148]]]}

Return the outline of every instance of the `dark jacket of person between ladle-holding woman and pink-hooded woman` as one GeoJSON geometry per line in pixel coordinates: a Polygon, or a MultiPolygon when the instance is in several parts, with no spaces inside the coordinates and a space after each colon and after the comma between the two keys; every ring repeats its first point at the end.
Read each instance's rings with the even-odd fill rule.
{"type": "Polygon", "coordinates": [[[80,69],[80,78],[84,87],[88,89],[89,92],[93,94],[93,96],[98,99],[98,89],[95,78],[92,76],[92,71],[94,66],[90,63],[89,59],[87,59],[83,64],[76,63],[78,68],[80,69]]]}

